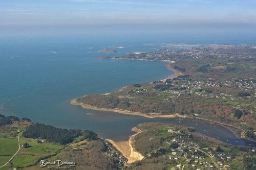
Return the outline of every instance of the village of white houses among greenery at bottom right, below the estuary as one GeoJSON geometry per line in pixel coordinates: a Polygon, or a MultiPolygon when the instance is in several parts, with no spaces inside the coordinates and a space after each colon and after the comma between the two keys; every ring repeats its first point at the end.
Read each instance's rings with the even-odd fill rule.
{"type": "Polygon", "coordinates": [[[165,148],[173,143],[177,143],[178,148],[172,148],[168,158],[179,163],[172,167],[173,170],[184,169],[185,167],[193,167],[198,170],[212,169],[216,167],[215,164],[218,164],[221,169],[229,169],[230,167],[228,162],[232,160],[231,154],[225,154],[224,151],[217,152],[216,147],[200,147],[198,143],[180,135],[166,142],[165,148]]]}

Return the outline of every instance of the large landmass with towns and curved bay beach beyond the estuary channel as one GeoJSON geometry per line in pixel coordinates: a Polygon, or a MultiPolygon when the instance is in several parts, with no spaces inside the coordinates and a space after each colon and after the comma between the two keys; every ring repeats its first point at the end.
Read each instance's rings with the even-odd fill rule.
{"type": "Polygon", "coordinates": [[[215,119],[241,129],[241,137],[255,140],[255,58],[256,49],[246,44],[130,53],[113,59],[169,61],[167,67],[175,76],[129,85],[107,95],[85,95],[71,104],[151,118],[215,119]]]}

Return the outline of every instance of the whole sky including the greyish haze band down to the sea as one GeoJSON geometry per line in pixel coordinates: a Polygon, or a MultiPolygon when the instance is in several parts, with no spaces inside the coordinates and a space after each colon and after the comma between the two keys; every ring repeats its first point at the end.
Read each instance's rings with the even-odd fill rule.
{"type": "Polygon", "coordinates": [[[0,36],[233,32],[253,36],[256,1],[35,0],[0,2],[0,36]]]}

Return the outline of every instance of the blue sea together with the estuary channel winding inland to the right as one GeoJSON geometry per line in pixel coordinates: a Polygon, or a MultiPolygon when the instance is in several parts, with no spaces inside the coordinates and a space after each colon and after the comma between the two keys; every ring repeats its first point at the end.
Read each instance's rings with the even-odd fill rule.
{"type": "Polygon", "coordinates": [[[255,145],[237,139],[229,130],[189,118],[145,118],[82,109],[70,100],[85,94],[108,93],[134,83],[161,80],[173,72],[164,62],[100,60],[163,48],[152,41],[92,41],[74,39],[8,39],[0,47],[0,114],[27,117],[60,128],[92,130],[116,141],[132,135],[144,122],[195,127],[210,138],[237,145],[255,145]],[[148,45],[150,44],[150,45],[148,45]],[[108,48],[116,54],[100,54],[108,48]],[[94,113],[88,115],[87,113],[94,113]]]}

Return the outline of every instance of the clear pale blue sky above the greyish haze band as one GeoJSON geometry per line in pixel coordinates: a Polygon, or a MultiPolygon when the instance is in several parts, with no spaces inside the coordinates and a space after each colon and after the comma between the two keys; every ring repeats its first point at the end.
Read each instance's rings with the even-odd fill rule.
{"type": "Polygon", "coordinates": [[[0,30],[256,25],[256,0],[1,0],[0,30]]]}

